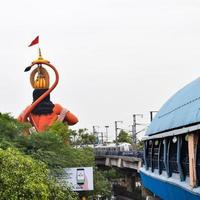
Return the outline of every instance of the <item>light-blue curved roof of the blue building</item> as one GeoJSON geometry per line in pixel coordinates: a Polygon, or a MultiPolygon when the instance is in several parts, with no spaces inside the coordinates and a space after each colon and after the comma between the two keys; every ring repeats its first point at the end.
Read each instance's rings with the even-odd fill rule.
{"type": "Polygon", "coordinates": [[[198,123],[200,123],[200,78],[179,90],[161,107],[145,135],[183,130],[198,123]]]}

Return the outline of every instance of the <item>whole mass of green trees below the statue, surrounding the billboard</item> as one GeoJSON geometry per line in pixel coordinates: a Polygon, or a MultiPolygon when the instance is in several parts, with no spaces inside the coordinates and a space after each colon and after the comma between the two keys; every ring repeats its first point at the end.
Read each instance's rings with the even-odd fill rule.
{"type": "MultiPolygon", "coordinates": [[[[55,176],[63,168],[93,166],[93,144],[87,129],[70,130],[56,122],[46,132],[24,136],[30,124],[21,124],[9,114],[0,114],[0,196],[1,199],[68,199],[77,194],[58,184],[55,176]],[[73,140],[76,137],[76,141],[73,140]],[[73,146],[72,146],[73,145],[73,146]]],[[[108,197],[110,183],[100,171],[94,171],[95,190],[86,192],[90,199],[99,194],[108,197]]]]}

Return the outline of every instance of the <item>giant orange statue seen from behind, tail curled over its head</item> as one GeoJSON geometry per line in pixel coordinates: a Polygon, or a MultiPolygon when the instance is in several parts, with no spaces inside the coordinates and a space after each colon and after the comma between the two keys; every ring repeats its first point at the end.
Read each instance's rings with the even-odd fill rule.
{"type": "Polygon", "coordinates": [[[33,91],[33,103],[29,105],[18,117],[20,122],[30,122],[38,132],[43,132],[55,121],[66,122],[74,125],[78,122],[77,117],[59,104],[53,104],[50,100],[50,93],[57,86],[59,74],[56,68],[49,61],[44,60],[39,50],[39,58],[25,69],[29,71],[33,66],[37,66],[30,75],[30,82],[33,91]],[[55,82],[49,87],[49,74],[43,67],[50,67],[55,73],[55,82]]]}

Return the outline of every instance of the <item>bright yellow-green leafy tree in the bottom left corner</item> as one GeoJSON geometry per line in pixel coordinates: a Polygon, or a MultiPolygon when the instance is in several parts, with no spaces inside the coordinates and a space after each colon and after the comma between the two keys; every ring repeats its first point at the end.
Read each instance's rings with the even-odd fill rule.
{"type": "Polygon", "coordinates": [[[10,148],[0,149],[0,196],[5,200],[77,199],[49,175],[45,164],[10,148]]]}

